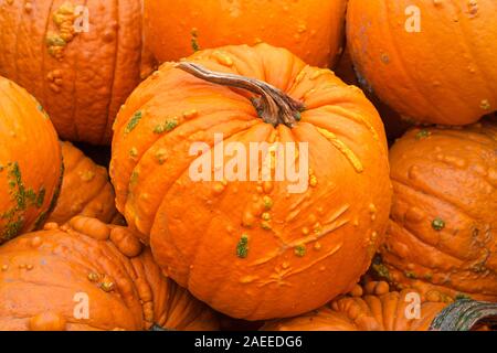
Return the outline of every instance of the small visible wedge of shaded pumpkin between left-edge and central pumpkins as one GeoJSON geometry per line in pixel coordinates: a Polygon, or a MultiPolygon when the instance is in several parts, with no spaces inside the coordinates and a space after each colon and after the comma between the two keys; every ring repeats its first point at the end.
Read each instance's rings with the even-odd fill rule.
{"type": "Polygon", "coordinates": [[[76,215],[118,223],[120,215],[114,204],[114,188],[107,170],[95,164],[71,142],[61,142],[64,179],[55,208],[47,222],[64,224],[76,215]]]}

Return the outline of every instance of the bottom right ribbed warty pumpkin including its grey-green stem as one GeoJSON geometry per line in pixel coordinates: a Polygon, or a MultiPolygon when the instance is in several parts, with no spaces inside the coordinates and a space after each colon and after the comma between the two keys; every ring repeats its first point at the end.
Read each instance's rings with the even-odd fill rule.
{"type": "Polygon", "coordinates": [[[371,281],[363,287],[358,285],[348,296],[337,298],[318,310],[267,322],[261,330],[466,331],[479,329],[490,322],[489,317],[497,314],[497,306],[491,303],[464,300],[448,308],[447,303],[419,300],[415,296],[419,293],[412,289],[391,291],[387,282],[371,281]]]}

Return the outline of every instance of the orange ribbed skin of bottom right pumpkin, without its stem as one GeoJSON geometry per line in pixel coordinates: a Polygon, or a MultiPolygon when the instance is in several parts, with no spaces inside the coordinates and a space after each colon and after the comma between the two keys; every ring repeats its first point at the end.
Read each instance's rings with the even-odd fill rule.
{"type": "Polygon", "coordinates": [[[447,304],[421,300],[420,317],[411,310],[413,290],[389,291],[384,281],[357,286],[347,297],[304,315],[267,322],[264,331],[426,331],[447,304]]]}

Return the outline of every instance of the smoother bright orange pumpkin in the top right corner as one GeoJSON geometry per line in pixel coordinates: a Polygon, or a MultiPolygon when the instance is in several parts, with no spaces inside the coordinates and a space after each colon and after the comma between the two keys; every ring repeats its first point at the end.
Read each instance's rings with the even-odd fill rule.
{"type": "Polygon", "coordinates": [[[363,84],[403,116],[466,125],[497,110],[495,0],[350,0],[347,13],[363,84]]]}

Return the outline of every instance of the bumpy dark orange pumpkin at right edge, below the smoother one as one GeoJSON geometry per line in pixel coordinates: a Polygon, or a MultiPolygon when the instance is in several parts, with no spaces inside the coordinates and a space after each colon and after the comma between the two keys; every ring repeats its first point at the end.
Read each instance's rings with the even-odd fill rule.
{"type": "Polygon", "coordinates": [[[432,298],[497,300],[497,126],[413,129],[390,151],[394,190],[383,264],[432,298]]]}

